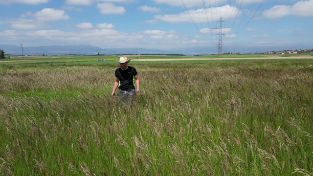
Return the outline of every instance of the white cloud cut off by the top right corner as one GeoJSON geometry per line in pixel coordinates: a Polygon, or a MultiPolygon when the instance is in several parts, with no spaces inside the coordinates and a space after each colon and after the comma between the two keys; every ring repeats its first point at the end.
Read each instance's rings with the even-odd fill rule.
{"type": "Polygon", "coordinates": [[[268,19],[278,19],[287,15],[295,15],[297,17],[313,16],[313,0],[301,0],[291,5],[275,5],[265,10],[263,16],[268,19]]]}

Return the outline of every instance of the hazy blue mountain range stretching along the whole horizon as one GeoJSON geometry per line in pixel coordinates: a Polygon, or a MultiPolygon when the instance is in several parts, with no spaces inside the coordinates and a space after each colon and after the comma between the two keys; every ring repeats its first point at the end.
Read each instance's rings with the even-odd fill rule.
{"type": "MultiPolygon", "coordinates": [[[[306,48],[308,45],[297,45],[294,46],[280,46],[280,45],[268,45],[262,44],[259,46],[249,45],[249,46],[234,46],[225,45],[223,47],[223,52],[240,52],[242,53],[254,53],[254,52],[267,52],[273,50],[284,50],[284,49],[300,49],[306,48]],[[237,48],[237,50],[236,50],[237,48]],[[234,51],[235,50],[235,51],[234,51]]],[[[308,47],[309,49],[310,47],[308,47]]],[[[3,49],[5,54],[12,55],[22,55],[21,46],[11,45],[11,44],[0,44],[0,49],[3,49]]],[[[195,46],[187,48],[177,48],[177,49],[145,49],[145,48],[100,48],[91,45],[54,45],[54,46],[25,46],[23,47],[24,55],[62,55],[62,54],[86,54],[86,55],[96,55],[96,54],[184,54],[187,56],[201,55],[201,54],[216,54],[217,47],[213,46],[195,46]]]]}

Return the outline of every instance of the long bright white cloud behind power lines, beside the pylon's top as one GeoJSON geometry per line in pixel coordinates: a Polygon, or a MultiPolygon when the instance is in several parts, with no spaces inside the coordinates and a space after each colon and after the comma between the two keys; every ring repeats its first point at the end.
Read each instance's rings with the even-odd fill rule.
{"type": "MultiPolygon", "coordinates": [[[[236,7],[231,7],[230,5],[224,5],[223,7],[212,7],[206,9],[198,9],[198,10],[189,10],[188,11],[191,18],[193,19],[194,22],[200,23],[200,22],[206,22],[207,18],[209,22],[212,22],[212,19],[214,22],[218,21],[220,15],[223,15],[224,20],[225,19],[230,19],[233,17],[233,13],[239,13],[239,15],[242,13],[239,11],[238,8],[236,7]],[[212,16],[211,16],[212,14],[212,16]],[[217,14],[217,15],[216,15],[217,14]]],[[[155,15],[154,18],[156,20],[161,20],[164,22],[170,22],[170,23],[178,23],[178,22],[192,22],[189,14],[187,12],[181,12],[179,14],[173,14],[173,15],[155,15]]]]}

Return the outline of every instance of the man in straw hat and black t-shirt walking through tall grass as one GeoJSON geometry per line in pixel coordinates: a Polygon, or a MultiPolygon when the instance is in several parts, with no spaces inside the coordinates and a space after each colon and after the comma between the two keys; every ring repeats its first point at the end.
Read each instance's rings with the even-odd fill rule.
{"type": "Polygon", "coordinates": [[[137,92],[140,92],[138,73],[134,67],[127,66],[131,62],[131,60],[127,60],[127,57],[120,57],[117,62],[121,67],[115,70],[115,82],[111,95],[115,96],[115,90],[118,88],[121,100],[132,99],[135,94],[135,84],[137,92]]]}

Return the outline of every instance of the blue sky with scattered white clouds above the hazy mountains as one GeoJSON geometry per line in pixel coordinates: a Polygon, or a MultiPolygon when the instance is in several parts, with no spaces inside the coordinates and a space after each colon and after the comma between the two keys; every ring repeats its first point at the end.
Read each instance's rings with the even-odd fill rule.
{"type": "Polygon", "coordinates": [[[222,24],[228,52],[313,48],[313,0],[0,0],[0,6],[0,44],[217,48],[214,28],[222,24]]]}

